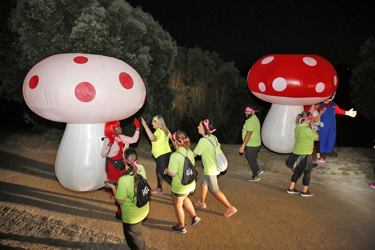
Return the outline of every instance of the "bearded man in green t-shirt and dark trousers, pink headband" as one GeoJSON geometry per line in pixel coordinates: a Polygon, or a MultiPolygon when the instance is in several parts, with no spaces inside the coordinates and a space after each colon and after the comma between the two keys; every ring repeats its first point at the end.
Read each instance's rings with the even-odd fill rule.
{"type": "Polygon", "coordinates": [[[260,175],[263,174],[263,170],[258,165],[258,153],[261,150],[261,123],[255,112],[259,110],[254,110],[253,106],[247,106],[245,108],[245,124],[242,129],[242,144],[239,148],[239,152],[245,152],[245,157],[249,162],[253,176],[249,181],[257,181],[261,178],[260,175]]]}

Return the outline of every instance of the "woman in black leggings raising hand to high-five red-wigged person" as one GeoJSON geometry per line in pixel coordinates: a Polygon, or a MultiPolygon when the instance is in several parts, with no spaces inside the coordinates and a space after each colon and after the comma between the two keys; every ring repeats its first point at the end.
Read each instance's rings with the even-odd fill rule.
{"type": "Polygon", "coordinates": [[[156,179],[157,187],[151,190],[153,194],[163,194],[163,180],[167,181],[170,185],[172,184],[172,178],[168,175],[164,175],[164,170],[168,168],[169,158],[171,156],[171,147],[169,145],[169,139],[172,139],[172,135],[169,132],[163,117],[155,115],[152,118],[152,127],[155,132],[152,133],[146,121],[141,118],[142,125],[144,126],[146,133],[151,141],[152,154],[156,162],[156,179]]]}

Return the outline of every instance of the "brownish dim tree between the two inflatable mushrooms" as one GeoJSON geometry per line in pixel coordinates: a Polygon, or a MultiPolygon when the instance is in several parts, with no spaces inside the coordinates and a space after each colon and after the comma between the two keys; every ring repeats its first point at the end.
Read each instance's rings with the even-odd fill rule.
{"type": "Polygon", "coordinates": [[[179,47],[172,72],[170,86],[178,94],[168,116],[170,128],[186,130],[196,140],[198,122],[210,119],[218,128],[216,135],[233,143],[250,99],[246,80],[234,63],[222,61],[216,52],[179,47]]]}

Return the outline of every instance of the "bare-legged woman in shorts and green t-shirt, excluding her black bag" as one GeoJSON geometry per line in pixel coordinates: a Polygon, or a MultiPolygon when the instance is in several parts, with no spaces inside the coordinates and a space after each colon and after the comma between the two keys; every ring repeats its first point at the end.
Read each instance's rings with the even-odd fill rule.
{"type": "MultiPolygon", "coordinates": [[[[190,150],[190,139],[184,131],[177,131],[172,136],[173,146],[176,151],[169,159],[168,168],[164,170],[173,178],[172,180],[172,200],[175,205],[175,212],[178,220],[178,225],[173,226],[172,230],[176,233],[185,234],[187,232],[185,227],[185,213],[183,206],[191,215],[191,225],[195,225],[200,221],[200,218],[195,214],[194,206],[188,198],[189,193],[195,190],[195,180],[187,185],[181,183],[184,175],[185,157],[188,157],[192,166],[195,165],[193,152],[190,150]]],[[[190,174],[190,173],[188,173],[190,174]]]]}

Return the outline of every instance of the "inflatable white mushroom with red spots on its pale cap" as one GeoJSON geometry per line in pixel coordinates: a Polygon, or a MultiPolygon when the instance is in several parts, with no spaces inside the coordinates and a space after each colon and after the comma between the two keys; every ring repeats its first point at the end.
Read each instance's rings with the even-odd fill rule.
{"type": "Polygon", "coordinates": [[[26,104],[46,119],[66,122],[55,173],[76,191],[104,186],[100,156],[104,126],[136,113],[144,104],[141,76],[121,60],[89,54],[59,54],[35,65],[23,84],[26,104]]]}

